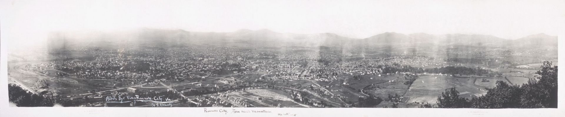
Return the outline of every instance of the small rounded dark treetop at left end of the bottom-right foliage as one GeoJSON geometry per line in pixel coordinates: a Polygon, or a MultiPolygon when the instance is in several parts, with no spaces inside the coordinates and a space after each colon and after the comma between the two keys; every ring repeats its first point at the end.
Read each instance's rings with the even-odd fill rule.
{"type": "Polygon", "coordinates": [[[470,102],[466,98],[459,97],[459,92],[455,88],[445,89],[441,93],[441,97],[437,97],[437,106],[440,108],[468,108],[471,107],[470,102]]]}

